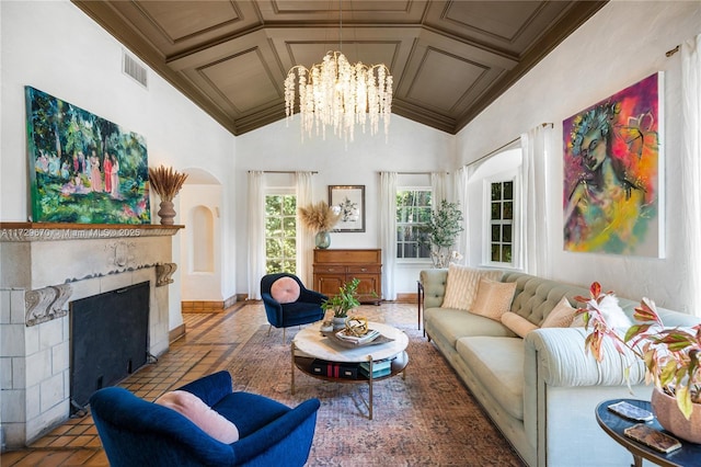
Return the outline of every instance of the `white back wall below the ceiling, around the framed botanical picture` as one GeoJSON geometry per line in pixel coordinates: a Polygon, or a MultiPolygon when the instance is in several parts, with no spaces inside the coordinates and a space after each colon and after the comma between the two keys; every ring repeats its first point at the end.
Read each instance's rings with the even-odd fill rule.
{"type": "MultiPolygon", "coordinates": [[[[389,141],[382,133],[375,137],[356,128],[354,143],[326,135],[301,141],[299,119],[286,125],[276,122],[237,138],[237,200],[246,200],[249,170],[318,171],[313,175],[314,201],[327,201],[327,185],[365,185],[366,231],[331,234],[331,248],[379,248],[378,190],[379,172],[448,171],[456,167],[455,136],[392,115],[389,141]]],[[[271,183],[280,179],[266,175],[271,183]]],[[[294,182],[292,182],[294,183],[294,182]]],[[[245,210],[237,215],[237,251],[248,251],[245,210]]],[[[398,266],[398,293],[415,293],[418,271],[429,266],[398,266]]],[[[248,258],[237,259],[237,289],[248,289],[248,258]]]]}

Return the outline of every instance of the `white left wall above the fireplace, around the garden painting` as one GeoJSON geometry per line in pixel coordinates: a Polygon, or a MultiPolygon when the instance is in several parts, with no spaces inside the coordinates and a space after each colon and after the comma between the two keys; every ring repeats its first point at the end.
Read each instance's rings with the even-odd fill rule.
{"type": "MultiPolygon", "coordinates": [[[[197,167],[230,178],[233,173],[233,137],[154,72],[149,89],[122,73],[123,46],[69,1],[1,1],[1,141],[0,219],[27,220],[27,156],[24,86],[107,118],[146,138],[149,166],[176,169],[197,167]]],[[[234,193],[225,185],[225,218],[234,205],[234,193]]],[[[151,198],[158,224],[158,196],[151,198]]],[[[176,202],[176,209],[179,208],[176,202]]],[[[183,219],[175,218],[175,223],[183,219]]],[[[234,229],[222,223],[223,236],[234,229]]],[[[173,241],[173,260],[180,263],[180,238],[173,241]]],[[[225,264],[234,263],[226,249],[225,264]]],[[[171,329],[182,323],[180,273],[171,286],[171,329]]],[[[234,271],[225,271],[233,295],[234,271]]]]}

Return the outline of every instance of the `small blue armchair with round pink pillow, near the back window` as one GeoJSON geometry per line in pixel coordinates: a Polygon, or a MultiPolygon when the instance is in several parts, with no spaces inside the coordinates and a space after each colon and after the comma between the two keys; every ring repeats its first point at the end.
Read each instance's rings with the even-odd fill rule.
{"type": "Polygon", "coordinates": [[[285,328],[308,324],[324,318],[321,304],[327,297],[304,287],[299,277],[294,274],[264,275],[261,278],[261,297],[267,321],[271,327],[283,328],[283,339],[285,339],[285,328]]]}

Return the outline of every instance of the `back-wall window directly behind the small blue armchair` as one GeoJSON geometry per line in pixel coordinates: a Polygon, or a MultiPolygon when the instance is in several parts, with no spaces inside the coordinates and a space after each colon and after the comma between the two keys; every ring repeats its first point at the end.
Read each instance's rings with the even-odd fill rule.
{"type": "Polygon", "coordinates": [[[265,196],[265,271],[267,274],[297,269],[297,196],[265,196]]]}

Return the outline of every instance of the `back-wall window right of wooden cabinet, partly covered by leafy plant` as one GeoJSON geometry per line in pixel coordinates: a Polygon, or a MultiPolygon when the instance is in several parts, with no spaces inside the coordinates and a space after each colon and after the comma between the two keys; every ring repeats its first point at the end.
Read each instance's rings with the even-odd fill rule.
{"type": "Polygon", "coordinates": [[[397,258],[430,258],[430,247],[422,244],[421,227],[430,220],[432,191],[427,187],[397,190],[397,258]]]}

